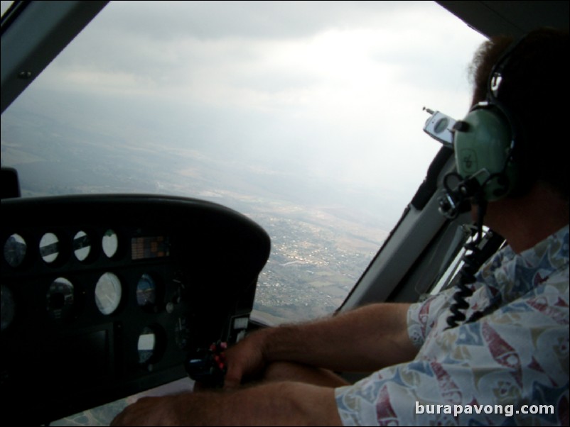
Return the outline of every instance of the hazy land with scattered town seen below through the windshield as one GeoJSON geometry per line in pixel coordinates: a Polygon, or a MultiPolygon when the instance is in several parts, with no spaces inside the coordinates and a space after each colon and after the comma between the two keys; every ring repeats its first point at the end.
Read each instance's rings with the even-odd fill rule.
{"type": "MultiPolygon", "coordinates": [[[[78,142],[94,135],[77,130],[67,140],[50,129],[49,121],[20,127],[12,116],[16,112],[2,116],[2,159],[17,167],[23,196],[167,193],[231,206],[262,225],[272,250],[259,277],[256,309],[266,321],[298,321],[334,311],[387,234],[371,214],[339,203],[343,194],[326,183],[228,168],[228,161],[198,153],[134,155],[112,144],[95,148],[78,142]],[[42,142],[10,142],[16,140],[42,142]],[[169,170],[176,164],[183,168],[169,170]],[[220,187],[222,176],[231,185],[220,187]]],[[[353,194],[355,203],[357,196],[353,194]]]]}

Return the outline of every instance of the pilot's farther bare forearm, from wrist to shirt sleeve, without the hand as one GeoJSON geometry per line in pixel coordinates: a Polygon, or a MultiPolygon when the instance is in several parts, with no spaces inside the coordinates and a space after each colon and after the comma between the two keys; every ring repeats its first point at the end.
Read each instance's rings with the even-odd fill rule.
{"type": "Polygon", "coordinates": [[[373,304],[313,323],[270,328],[262,352],[267,362],[288,361],[330,370],[368,371],[411,360],[409,304],[373,304]]]}

